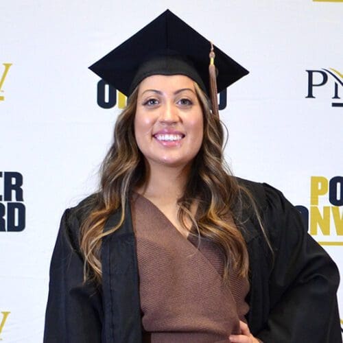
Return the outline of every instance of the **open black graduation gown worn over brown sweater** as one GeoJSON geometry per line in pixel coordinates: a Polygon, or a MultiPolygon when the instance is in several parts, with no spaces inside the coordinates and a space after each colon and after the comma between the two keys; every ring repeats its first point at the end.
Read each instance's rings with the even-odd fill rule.
{"type": "MultiPolygon", "coordinates": [[[[337,266],[307,234],[300,214],[280,191],[239,182],[255,198],[274,250],[273,256],[252,211],[246,209],[242,234],[250,259],[250,331],[265,343],[342,342],[337,266]]],[[[103,241],[101,286],[83,283],[81,209],[67,209],[62,216],[51,259],[44,342],[139,343],[139,276],[130,204],[123,225],[103,241]]],[[[117,211],[108,218],[105,230],[119,215],[117,211]]]]}

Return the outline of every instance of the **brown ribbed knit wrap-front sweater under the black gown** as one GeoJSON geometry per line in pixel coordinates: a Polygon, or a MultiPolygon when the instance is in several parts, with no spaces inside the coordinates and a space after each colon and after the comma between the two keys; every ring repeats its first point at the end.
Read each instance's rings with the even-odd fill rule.
{"type": "Polygon", "coordinates": [[[217,246],[201,239],[198,248],[143,196],[131,207],[145,342],[229,342],[248,312],[248,281],[232,273],[225,287],[217,246]]]}

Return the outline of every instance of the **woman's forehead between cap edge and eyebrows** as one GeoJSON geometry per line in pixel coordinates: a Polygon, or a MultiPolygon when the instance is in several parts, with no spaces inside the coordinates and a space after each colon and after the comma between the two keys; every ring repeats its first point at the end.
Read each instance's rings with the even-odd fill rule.
{"type": "Polygon", "coordinates": [[[162,93],[174,93],[183,88],[189,88],[194,93],[194,81],[185,75],[152,75],[145,78],[139,84],[139,95],[149,89],[162,93]]]}

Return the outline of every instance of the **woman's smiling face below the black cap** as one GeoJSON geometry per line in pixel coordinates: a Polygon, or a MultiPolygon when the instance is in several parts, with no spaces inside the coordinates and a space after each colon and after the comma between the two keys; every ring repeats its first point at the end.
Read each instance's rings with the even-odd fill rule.
{"type": "Polygon", "coordinates": [[[185,167],[202,145],[203,115],[193,80],[152,75],[139,85],[134,134],[150,167],[185,167]]]}

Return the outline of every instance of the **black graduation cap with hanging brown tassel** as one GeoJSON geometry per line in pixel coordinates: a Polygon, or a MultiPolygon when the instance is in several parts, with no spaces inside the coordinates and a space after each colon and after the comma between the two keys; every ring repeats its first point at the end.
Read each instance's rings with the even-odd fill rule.
{"type": "MultiPolygon", "coordinates": [[[[217,93],[248,74],[244,67],[169,10],[89,69],[127,96],[148,76],[187,75],[211,95],[212,103],[217,102],[217,93]]],[[[213,104],[213,107],[217,106],[213,104]]]]}

